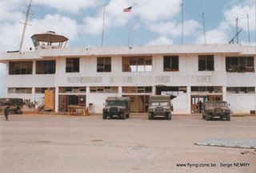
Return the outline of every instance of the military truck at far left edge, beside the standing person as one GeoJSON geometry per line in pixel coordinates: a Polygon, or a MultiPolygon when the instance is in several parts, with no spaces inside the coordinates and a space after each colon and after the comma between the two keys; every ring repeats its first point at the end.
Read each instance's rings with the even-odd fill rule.
{"type": "Polygon", "coordinates": [[[23,100],[21,98],[0,98],[0,112],[4,110],[6,104],[9,105],[9,112],[22,114],[23,100]]]}

